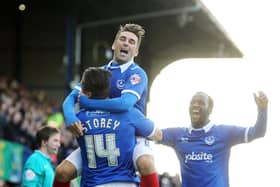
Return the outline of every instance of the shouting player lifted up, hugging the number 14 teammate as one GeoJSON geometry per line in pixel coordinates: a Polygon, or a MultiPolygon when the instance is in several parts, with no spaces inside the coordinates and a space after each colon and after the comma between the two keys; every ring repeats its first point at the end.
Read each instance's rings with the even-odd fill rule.
{"type": "MultiPolygon", "coordinates": [[[[108,100],[91,100],[80,97],[80,106],[86,109],[107,111],[128,111],[133,107],[142,113],[145,111],[148,78],[145,71],[134,62],[139,53],[139,47],[145,30],[137,24],[120,26],[112,45],[113,60],[103,68],[112,73],[110,98],[108,100]]],[[[66,123],[76,135],[82,135],[82,125],[74,112],[74,105],[80,92],[80,85],[67,96],[63,104],[66,123]]],[[[135,167],[141,174],[141,187],[157,187],[156,174],[152,151],[146,139],[137,138],[133,152],[135,167]]],[[[61,182],[70,181],[81,170],[81,158],[77,151],[73,152],[66,161],[56,169],[56,179],[61,182]],[[76,155],[73,155],[76,154],[76,155]]],[[[62,184],[60,184],[62,186],[62,184]]]]}

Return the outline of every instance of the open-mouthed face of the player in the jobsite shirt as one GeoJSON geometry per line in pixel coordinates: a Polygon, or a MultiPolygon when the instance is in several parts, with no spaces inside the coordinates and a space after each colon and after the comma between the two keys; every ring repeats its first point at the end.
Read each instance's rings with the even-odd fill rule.
{"type": "Polygon", "coordinates": [[[205,94],[196,94],[193,96],[189,113],[194,128],[201,128],[209,121],[208,96],[205,94]]]}

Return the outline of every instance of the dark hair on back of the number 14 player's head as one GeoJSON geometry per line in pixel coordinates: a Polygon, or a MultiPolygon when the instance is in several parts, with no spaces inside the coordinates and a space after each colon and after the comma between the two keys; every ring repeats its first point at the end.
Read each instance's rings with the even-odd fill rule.
{"type": "Polygon", "coordinates": [[[105,69],[89,67],[82,77],[82,89],[91,93],[91,98],[105,99],[110,94],[111,72],[105,69]]]}

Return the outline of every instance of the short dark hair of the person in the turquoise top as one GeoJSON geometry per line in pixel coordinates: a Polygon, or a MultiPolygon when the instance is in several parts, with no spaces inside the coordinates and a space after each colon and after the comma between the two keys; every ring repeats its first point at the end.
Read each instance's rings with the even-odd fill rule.
{"type": "Polygon", "coordinates": [[[42,141],[48,141],[48,139],[53,135],[59,133],[59,130],[51,126],[43,126],[36,133],[36,146],[40,148],[42,146],[42,141]]]}

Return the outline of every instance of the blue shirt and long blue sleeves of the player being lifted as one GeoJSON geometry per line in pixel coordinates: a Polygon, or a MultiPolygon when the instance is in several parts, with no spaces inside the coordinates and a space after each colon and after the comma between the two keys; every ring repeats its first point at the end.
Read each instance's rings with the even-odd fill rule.
{"type": "MultiPolygon", "coordinates": [[[[146,97],[148,87],[148,77],[145,71],[133,61],[127,62],[122,65],[115,64],[111,61],[109,64],[101,67],[111,71],[111,89],[110,98],[115,98],[115,102],[111,100],[91,100],[87,97],[80,97],[80,106],[89,110],[103,109],[108,111],[127,111],[134,105],[142,113],[145,113],[146,97]],[[130,93],[135,96],[130,98],[130,93]],[[126,97],[123,102],[120,96],[124,94],[126,97]],[[136,103],[135,103],[136,102],[136,103]],[[125,108],[121,110],[120,108],[125,108]]],[[[77,96],[81,91],[81,84],[78,83],[75,89],[66,97],[63,102],[63,112],[65,116],[66,126],[77,122],[79,119],[74,112],[74,106],[77,102],[77,96]]]]}

